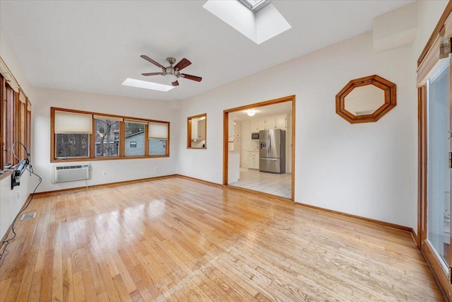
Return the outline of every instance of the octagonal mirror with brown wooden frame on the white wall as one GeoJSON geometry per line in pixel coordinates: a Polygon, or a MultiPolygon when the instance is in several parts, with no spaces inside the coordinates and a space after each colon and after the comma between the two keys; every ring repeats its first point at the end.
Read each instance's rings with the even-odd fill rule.
{"type": "Polygon", "coordinates": [[[336,95],[336,113],[351,124],[376,122],[396,106],[396,84],[381,76],[347,83],[336,95]]]}

